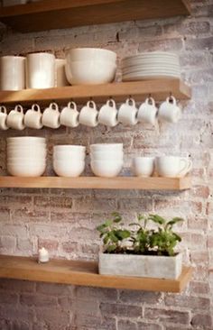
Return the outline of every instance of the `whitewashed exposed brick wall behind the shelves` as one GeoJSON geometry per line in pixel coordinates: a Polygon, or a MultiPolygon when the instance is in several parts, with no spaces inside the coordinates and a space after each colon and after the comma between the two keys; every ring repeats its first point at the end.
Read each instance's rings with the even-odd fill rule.
{"type": "MultiPolygon", "coordinates": [[[[119,59],[144,50],[172,50],[181,56],[182,75],[192,86],[178,124],[106,130],[85,127],[39,134],[59,142],[124,142],[125,170],[135,154],[190,155],[193,188],[182,193],[110,190],[1,189],[0,253],[35,255],[46,246],[53,257],[97,259],[95,227],[114,210],[133,219],[136,212],[181,215],[184,261],[195,267],[181,294],[89,289],[0,280],[1,330],[212,330],[213,315],[213,1],[191,1],[193,17],[116,23],[72,30],[18,34],[0,31],[1,54],[50,50],[63,57],[69,47],[116,50],[119,59]]],[[[119,78],[119,72],[117,77],[119,78]]],[[[0,174],[5,174],[5,137],[1,132],[0,174]]],[[[89,166],[87,172],[89,172],[89,166]]]]}

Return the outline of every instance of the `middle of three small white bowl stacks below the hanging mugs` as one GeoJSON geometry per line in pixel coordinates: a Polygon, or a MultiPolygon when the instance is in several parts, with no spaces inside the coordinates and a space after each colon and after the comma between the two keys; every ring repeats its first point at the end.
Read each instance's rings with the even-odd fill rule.
{"type": "Polygon", "coordinates": [[[55,145],[53,170],[59,177],[76,178],[85,169],[86,147],[82,145],[55,145]]]}

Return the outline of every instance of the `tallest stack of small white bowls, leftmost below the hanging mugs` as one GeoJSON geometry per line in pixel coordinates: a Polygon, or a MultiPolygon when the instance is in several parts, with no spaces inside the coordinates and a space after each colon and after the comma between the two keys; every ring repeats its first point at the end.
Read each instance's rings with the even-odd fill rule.
{"type": "Polygon", "coordinates": [[[40,177],[46,169],[46,153],[44,138],[8,138],[7,170],[15,177],[40,177]]]}

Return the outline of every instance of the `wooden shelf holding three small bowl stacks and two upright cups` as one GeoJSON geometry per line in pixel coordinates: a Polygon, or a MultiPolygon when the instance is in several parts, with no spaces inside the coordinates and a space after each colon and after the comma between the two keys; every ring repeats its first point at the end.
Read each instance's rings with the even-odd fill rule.
{"type": "Polygon", "coordinates": [[[75,189],[142,189],[184,190],[191,187],[190,177],[185,178],[20,178],[0,177],[0,188],[75,188],[75,189]]]}

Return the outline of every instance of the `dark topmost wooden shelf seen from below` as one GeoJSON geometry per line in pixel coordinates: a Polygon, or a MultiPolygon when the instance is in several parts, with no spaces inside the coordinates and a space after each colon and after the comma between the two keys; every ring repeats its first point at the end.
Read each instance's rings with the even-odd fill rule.
{"type": "Polygon", "coordinates": [[[42,0],[2,7],[0,21],[19,32],[190,14],[189,0],[42,0]]]}

